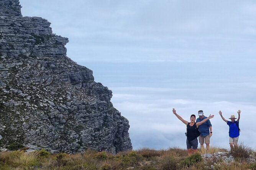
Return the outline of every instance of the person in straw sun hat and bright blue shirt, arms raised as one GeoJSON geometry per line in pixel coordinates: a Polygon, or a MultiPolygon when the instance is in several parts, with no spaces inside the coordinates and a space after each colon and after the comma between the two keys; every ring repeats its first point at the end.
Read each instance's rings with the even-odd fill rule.
{"type": "Polygon", "coordinates": [[[222,116],[222,111],[219,111],[220,117],[222,117],[222,120],[224,120],[226,122],[226,124],[229,126],[229,144],[230,144],[230,148],[231,150],[233,150],[234,148],[237,148],[237,143],[238,143],[238,138],[239,138],[239,120],[240,120],[240,113],[241,111],[238,110],[238,119],[235,118],[235,115],[231,115],[230,118],[231,121],[226,120],[223,116],[222,116]],[[237,119],[237,120],[235,120],[237,119]],[[233,146],[234,145],[234,146],[233,146]]]}

